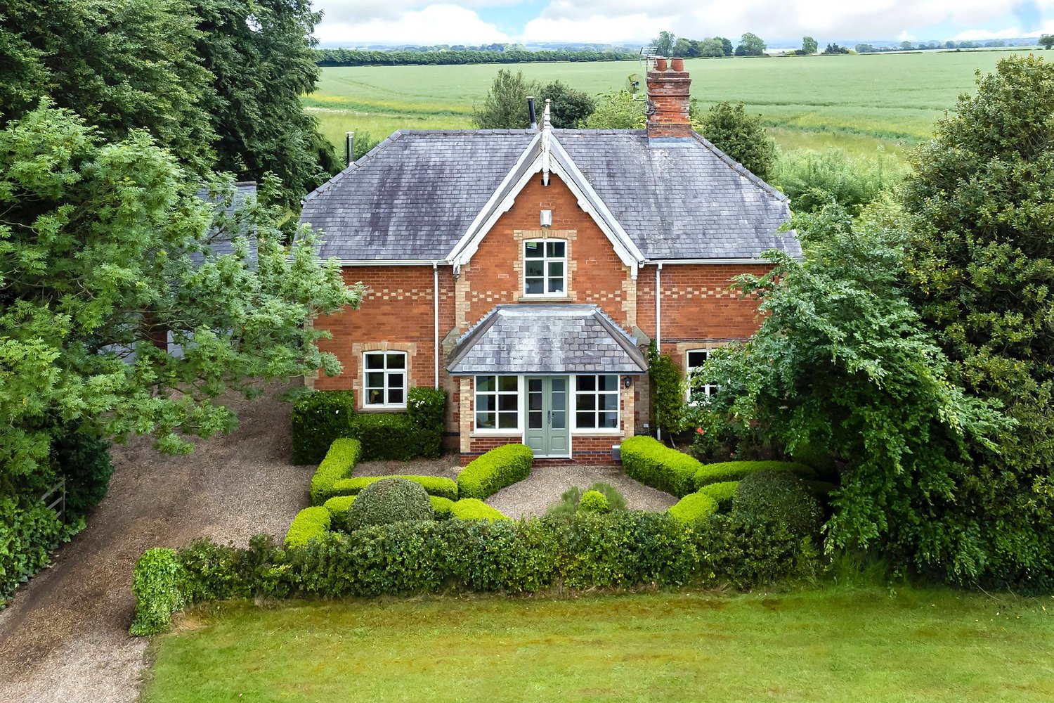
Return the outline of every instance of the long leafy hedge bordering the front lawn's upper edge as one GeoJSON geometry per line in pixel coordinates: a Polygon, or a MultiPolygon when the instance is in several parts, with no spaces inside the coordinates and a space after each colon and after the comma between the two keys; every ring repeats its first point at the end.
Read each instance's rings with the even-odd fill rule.
{"type": "Polygon", "coordinates": [[[266,535],[245,549],[200,541],[150,550],[136,564],[133,633],[162,631],[174,611],[207,600],[746,588],[808,577],[815,567],[815,549],[779,524],[714,515],[689,528],[640,511],[405,522],[330,532],[302,547],[281,548],[266,535]]]}

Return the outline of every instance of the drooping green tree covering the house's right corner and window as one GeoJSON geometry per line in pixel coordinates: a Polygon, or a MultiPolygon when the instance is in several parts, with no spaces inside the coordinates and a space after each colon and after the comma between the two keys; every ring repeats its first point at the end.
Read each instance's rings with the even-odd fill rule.
{"type": "Polygon", "coordinates": [[[767,254],[764,276],[737,279],[763,320],[702,374],[707,406],[745,436],[794,454],[822,447],[841,488],[827,548],[870,549],[899,567],[971,581],[994,546],[971,495],[971,444],[992,446],[1008,421],[951,383],[951,365],[904,291],[904,218],[881,200],[854,221],[839,206],[793,222],[807,256],[767,254]]]}

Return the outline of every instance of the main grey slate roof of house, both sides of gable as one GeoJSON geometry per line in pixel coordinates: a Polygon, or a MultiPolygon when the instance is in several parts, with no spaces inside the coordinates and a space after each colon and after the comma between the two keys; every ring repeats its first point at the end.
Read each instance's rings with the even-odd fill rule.
{"type": "MultiPolygon", "coordinates": [[[[443,260],[536,133],[396,132],[311,193],[300,219],[323,231],[323,257],[443,260]]],[[[798,256],[787,198],[700,135],[553,130],[608,210],[649,259],[798,256]]]]}

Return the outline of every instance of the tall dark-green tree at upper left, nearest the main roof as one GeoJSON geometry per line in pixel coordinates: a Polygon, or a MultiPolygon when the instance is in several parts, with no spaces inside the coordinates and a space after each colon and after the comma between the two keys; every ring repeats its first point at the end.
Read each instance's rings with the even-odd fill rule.
{"type": "Polygon", "coordinates": [[[321,15],[310,0],[193,0],[191,15],[196,55],[213,76],[206,104],[216,170],[256,180],[270,172],[295,208],[339,170],[300,104],[319,76],[311,33],[321,15]]]}

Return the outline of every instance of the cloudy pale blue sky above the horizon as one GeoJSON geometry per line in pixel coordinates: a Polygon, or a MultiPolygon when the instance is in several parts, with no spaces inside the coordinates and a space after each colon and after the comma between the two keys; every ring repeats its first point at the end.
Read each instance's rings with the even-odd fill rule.
{"type": "Polygon", "coordinates": [[[645,44],[753,32],[770,46],[945,41],[1054,33],[1054,0],[314,0],[329,46],[575,42],[645,44]],[[792,42],[786,44],[786,42],[792,42]]]}

